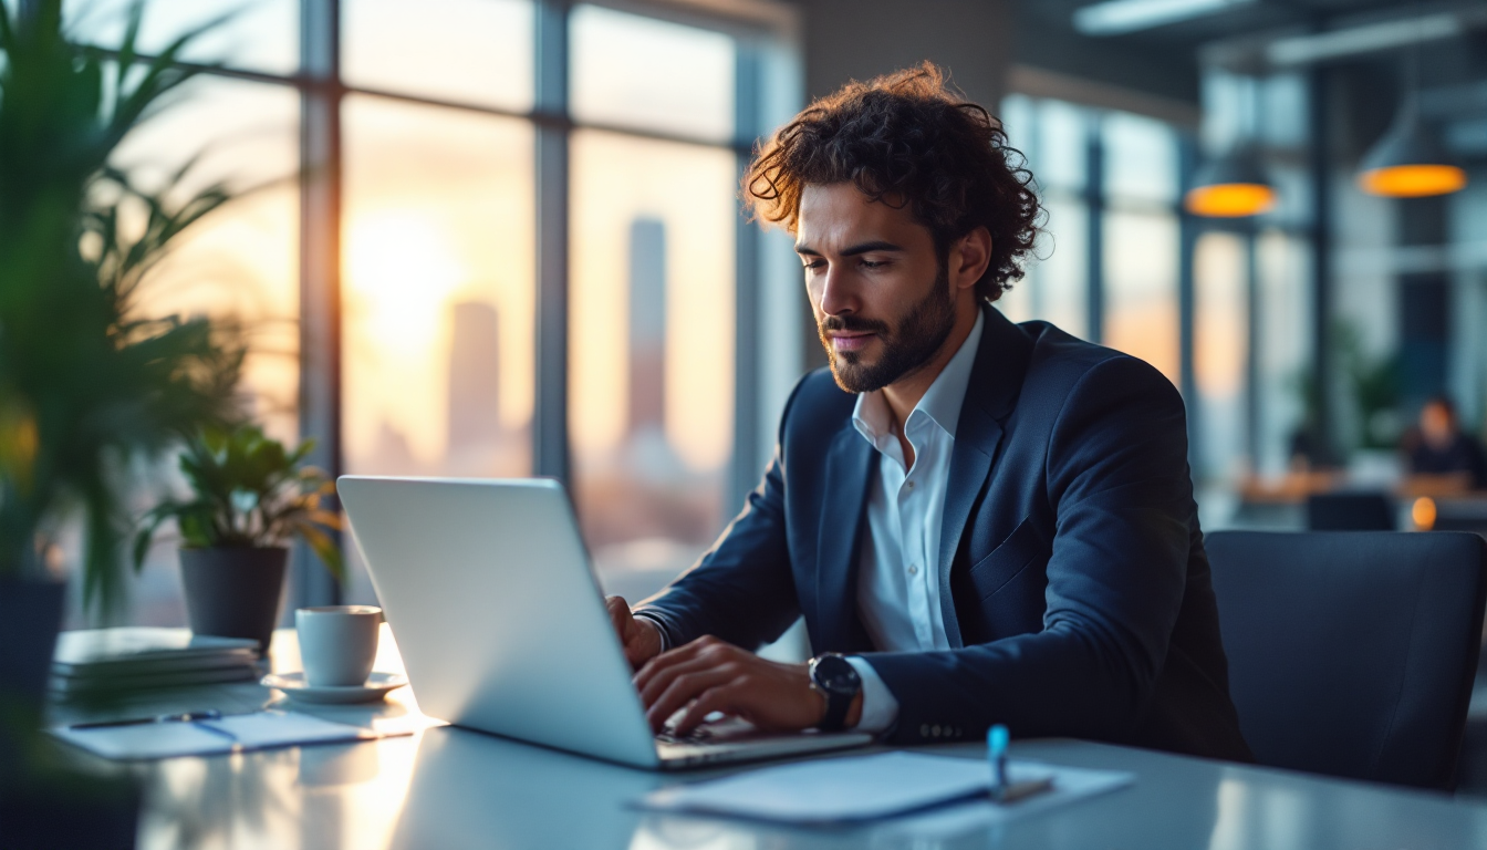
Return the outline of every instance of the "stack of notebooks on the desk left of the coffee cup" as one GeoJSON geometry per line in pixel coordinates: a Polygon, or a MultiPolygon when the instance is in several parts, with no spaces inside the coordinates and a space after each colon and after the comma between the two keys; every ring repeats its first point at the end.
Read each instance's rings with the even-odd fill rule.
{"type": "Polygon", "coordinates": [[[183,688],[259,677],[259,643],[207,637],[189,628],[91,628],[64,631],[52,658],[52,694],[183,688]]]}

